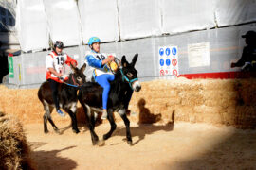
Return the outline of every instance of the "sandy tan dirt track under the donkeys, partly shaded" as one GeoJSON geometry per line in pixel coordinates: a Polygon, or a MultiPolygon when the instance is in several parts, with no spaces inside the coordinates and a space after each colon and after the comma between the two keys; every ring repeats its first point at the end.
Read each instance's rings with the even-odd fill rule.
{"type": "MultiPolygon", "coordinates": [[[[43,124],[24,128],[38,169],[256,169],[256,130],[213,127],[207,124],[138,125],[131,123],[133,145],[125,142],[125,127],[118,123],[105,145],[93,146],[90,133],[80,126],[74,134],[68,123],[61,134],[43,124]]],[[[101,138],[110,128],[96,127],[101,138]]]]}

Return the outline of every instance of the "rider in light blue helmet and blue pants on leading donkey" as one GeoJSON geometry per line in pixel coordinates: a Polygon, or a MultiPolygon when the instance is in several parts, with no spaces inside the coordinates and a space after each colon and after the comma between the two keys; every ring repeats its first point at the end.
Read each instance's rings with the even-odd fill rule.
{"type": "Polygon", "coordinates": [[[108,93],[110,91],[110,81],[115,79],[114,74],[111,72],[107,63],[115,60],[115,58],[111,56],[106,56],[103,53],[100,53],[100,44],[101,40],[98,37],[91,37],[89,39],[88,45],[91,48],[91,51],[88,52],[85,56],[87,63],[94,68],[93,77],[95,81],[101,85],[103,88],[102,93],[102,106],[103,112],[101,119],[107,118],[107,100],[108,93]]]}

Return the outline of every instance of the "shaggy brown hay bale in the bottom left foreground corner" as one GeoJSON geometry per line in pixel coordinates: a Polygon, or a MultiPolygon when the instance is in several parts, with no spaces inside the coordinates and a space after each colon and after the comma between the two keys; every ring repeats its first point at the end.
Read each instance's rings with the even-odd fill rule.
{"type": "Polygon", "coordinates": [[[1,169],[34,169],[23,127],[17,119],[1,113],[0,138],[1,169]]]}

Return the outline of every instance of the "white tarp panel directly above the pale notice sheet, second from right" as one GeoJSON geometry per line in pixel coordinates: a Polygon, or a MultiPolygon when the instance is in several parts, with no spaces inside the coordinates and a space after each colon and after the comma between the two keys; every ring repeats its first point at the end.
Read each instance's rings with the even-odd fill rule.
{"type": "Polygon", "coordinates": [[[215,26],[215,1],[163,0],[163,32],[178,33],[215,26]]]}

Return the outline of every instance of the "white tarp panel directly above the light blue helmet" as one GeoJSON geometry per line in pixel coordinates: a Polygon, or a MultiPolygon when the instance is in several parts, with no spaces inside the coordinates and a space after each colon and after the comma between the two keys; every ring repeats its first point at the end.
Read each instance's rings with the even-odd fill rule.
{"type": "Polygon", "coordinates": [[[79,1],[82,20],[82,41],[96,36],[101,42],[119,41],[119,20],[116,0],[79,1]]]}

